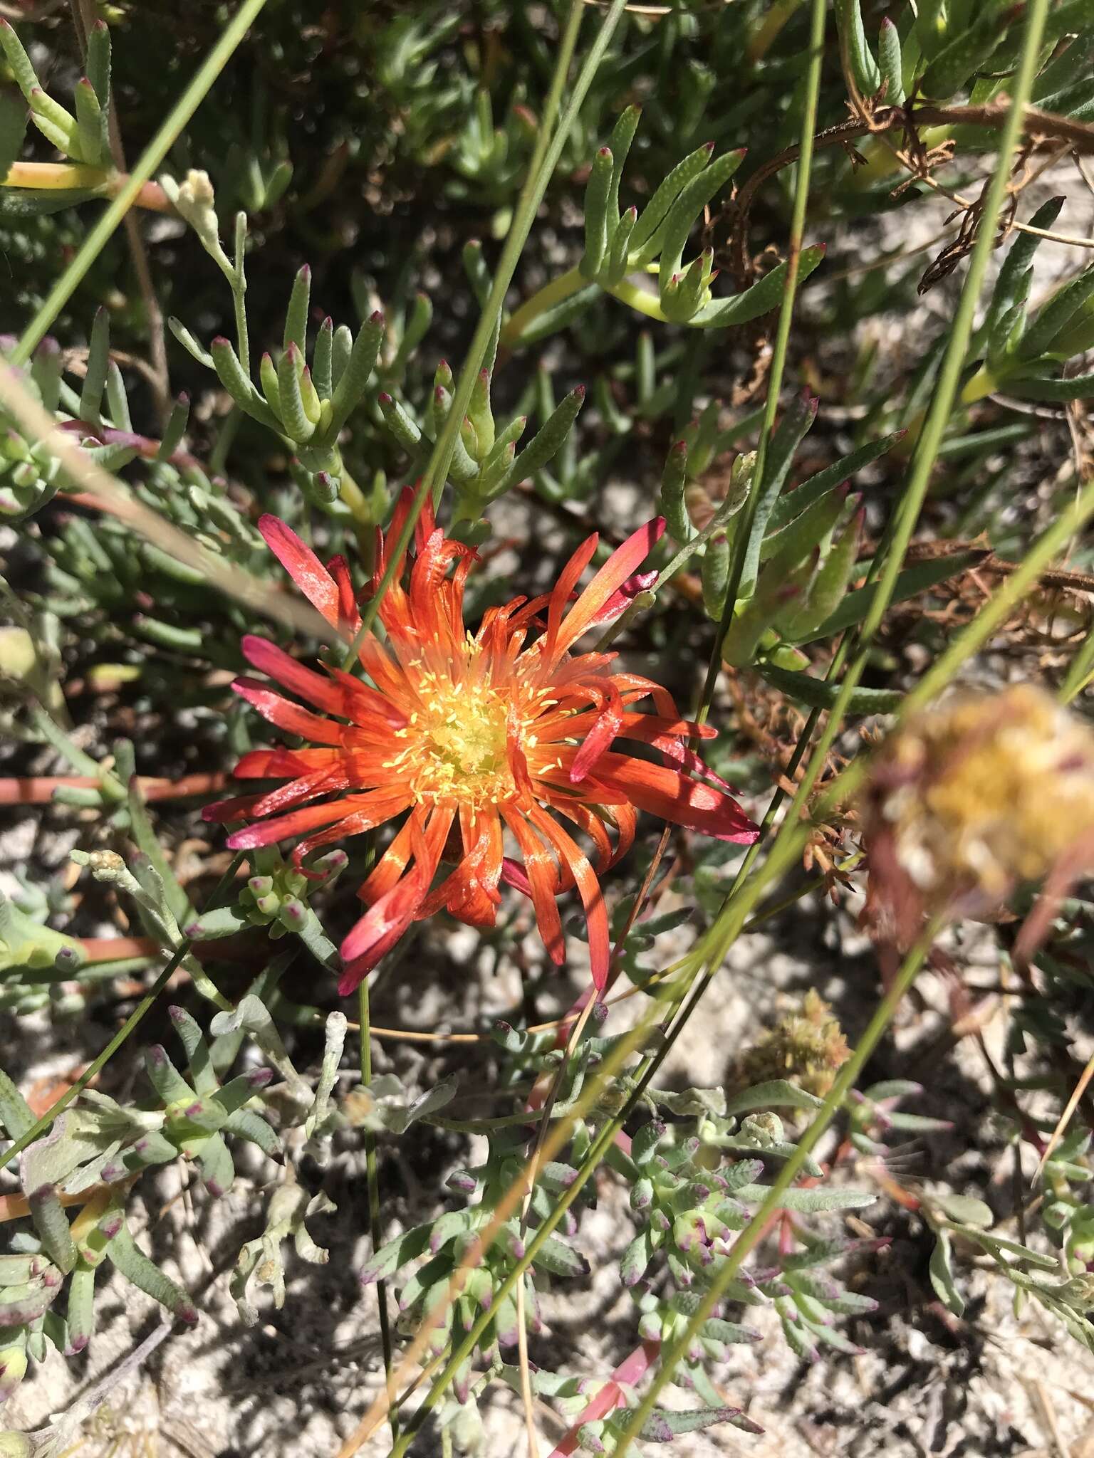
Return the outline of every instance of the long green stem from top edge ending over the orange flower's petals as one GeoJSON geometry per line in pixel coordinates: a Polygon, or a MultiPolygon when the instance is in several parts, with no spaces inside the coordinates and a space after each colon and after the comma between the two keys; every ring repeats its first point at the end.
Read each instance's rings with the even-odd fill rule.
{"type": "Polygon", "coordinates": [[[540,139],[535,144],[535,152],[532,155],[531,165],[528,168],[528,178],[521,191],[521,198],[516,204],[516,211],[513,214],[513,222],[509,233],[505,239],[505,248],[502,249],[502,257],[497,262],[497,271],[494,274],[493,284],[490,287],[490,295],[483,308],[483,313],[478,319],[478,327],[476,328],[474,338],[471,340],[471,347],[464,360],[464,367],[459,372],[459,381],[457,382],[455,395],[452,399],[452,408],[448,413],[443,429],[438,434],[436,445],[429,458],[429,465],[422,477],[419,488],[414,494],[414,504],[407,515],[407,521],[403,525],[398,541],[389,553],[388,566],[381,577],[379,586],[371,602],[366,604],[362,611],[360,628],[357,636],[350,644],[349,652],[343,666],[350,669],[357,660],[357,653],[360,644],[369,634],[372,624],[379,611],[379,605],[384,601],[384,593],[391,586],[391,582],[398,570],[403,553],[410,544],[410,538],[414,532],[414,525],[422,515],[422,507],[426,500],[433,497],[435,503],[441,499],[441,491],[443,490],[445,480],[448,477],[448,468],[452,462],[452,453],[455,451],[455,443],[459,436],[459,426],[467,414],[467,407],[471,402],[471,392],[476,386],[478,378],[478,370],[481,367],[483,359],[486,357],[486,350],[490,344],[490,338],[494,331],[494,325],[502,312],[502,305],[505,303],[505,295],[512,283],[513,273],[516,271],[516,262],[524,249],[525,241],[531,230],[535,214],[543,201],[544,192],[547,191],[547,184],[554,172],[562,156],[562,149],[566,144],[566,137],[573,125],[585,95],[592,85],[592,77],[597,73],[601,57],[608,47],[608,41],[618,25],[620,16],[623,15],[626,0],[613,0],[611,10],[604,17],[600,28],[600,34],[592,44],[585,64],[582,66],[581,74],[573,87],[570,96],[570,104],[566,108],[566,114],[554,130],[553,139],[550,137],[551,125],[554,117],[557,115],[559,105],[562,101],[562,89],[566,83],[566,74],[569,73],[570,58],[573,55],[573,48],[578,42],[578,29],[581,28],[581,19],[585,12],[583,0],[573,0],[570,4],[570,13],[566,20],[566,29],[562,35],[562,44],[559,47],[559,60],[554,67],[554,77],[551,80],[550,95],[547,98],[547,105],[544,108],[544,121],[540,128],[540,139]],[[550,139],[550,146],[548,146],[550,139]]]}

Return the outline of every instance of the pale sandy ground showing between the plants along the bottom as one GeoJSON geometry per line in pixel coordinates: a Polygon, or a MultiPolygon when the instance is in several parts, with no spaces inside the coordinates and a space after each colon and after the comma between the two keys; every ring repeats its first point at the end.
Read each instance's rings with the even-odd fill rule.
{"type": "MultiPolygon", "coordinates": [[[[709,994],[707,1018],[696,1021],[674,1050],[667,1082],[681,1088],[719,1083],[744,1031],[757,1026],[759,1012],[810,983],[833,1000],[853,1037],[866,1010],[864,972],[868,975],[865,956],[853,933],[836,945],[831,919],[807,904],[773,936],[753,936],[735,949],[709,994]],[[826,924],[827,932],[821,930],[826,924]],[[808,958],[802,955],[807,946],[808,958]]],[[[506,1007],[512,989],[502,981],[477,990],[468,984],[459,991],[464,996],[455,1000],[474,1003],[477,1013],[487,1015],[506,1007]]],[[[983,1127],[988,1137],[983,1147],[960,1153],[950,1136],[932,1136],[929,1149],[919,1146],[901,1159],[901,1178],[915,1182],[945,1171],[958,1188],[990,1198],[989,1171],[996,1161],[990,1159],[983,1069],[967,1044],[938,1057],[945,1032],[941,997],[932,1006],[929,983],[922,991],[926,996],[906,1009],[896,1048],[871,1067],[871,1076],[919,1073],[929,1088],[922,1111],[953,1111],[960,1098],[969,1127],[983,1127]]],[[[433,1012],[452,1015],[452,996],[430,989],[424,975],[410,975],[394,1000],[397,1007],[384,1009],[392,1021],[410,1009],[408,1021],[424,1025],[433,1012]]],[[[389,1053],[404,1075],[417,1066],[427,1082],[429,1060],[407,1056],[406,1045],[384,1044],[381,1067],[389,1064],[389,1053]]],[[[420,1217],[438,1174],[465,1158],[467,1145],[452,1136],[423,1130],[419,1142],[420,1147],[398,1153],[385,1150],[382,1162],[382,1181],[394,1191],[385,1209],[400,1223],[420,1217]],[[433,1171],[429,1182],[424,1169],[433,1171]]],[[[369,1250],[362,1233],[363,1168],[353,1146],[347,1136],[325,1171],[305,1171],[309,1187],[321,1182],[338,1204],[337,1216],[314,1223],[317,1239],[331,1250],[330,1264],[290,1260],[284,1308],[276,1312],[260,1301],[263,1321],[251,1330],[242,1327],[228,1295],[228,1267],[242,1239],[257,1233],[261,1190],[271,1166],[258,1158],[249,1166],[241,1161],[241,1178],[217,1201],[175,1168],[155,1184],[144,1182],[144,1239],[200,1293],[201,1324],[193,1333],[172,1334],[141,1371],[109,1394],[106,1406],[85,1424],[80,1452],[104,1458],[124,1452],[267,1458],[292,1451],[302,1458],[334,1458],[376,1394],[381,1372],[375,1295],[362,1298],[353,1274],[369,1250]]],[[[694,1458],[1094,1455],[1094,1359],[1053,1328],[1039,1308],[1027,1306],[1015,1317],[1009,1287],[971,1268],[966,1270],[966,1318],[942,1314],[926,1283],[929,1239],[915,1216],[894,1213],[881,1201],[864,1215],[893,1236],[893,1245],[864,1264],[855,1282],[881,1302],[877,1315],[850,1327],[862,1354],[804,1365],[782,1340],[773,1312],[759,1314],[754,1324],[764,1340],[754,1349],[735,1349],[732,1362],[715,1376],[726,1398],[764,1426],[764,1436],[713,1429],[678,1439],[674,1452],[694,1458]]],[[[551,1366],[607,1375],[630,1350],[633,1308],[611,1267],[629,1232],[624,1194],[605,1178],[597,1209],[582,1217],[579,1236],[594,1277],[586,1289],[547,1298],[548,1336],[532,1343],[532,1360],[538,1353],[551,1366]]],[[[99,1312],[101,1331],[90,1353],[69,1362],[51,1354],[6,1410],[12,1426],[41,1429],[50,1414],[69,1408],[90,1384],[117,1369],[159,1321],[150,1301],[118,1282],[102,1292],[99,1312]]],[[[499,1388],[484,1403],[483,1416],[483,1454],[502,1458],[525,1451],[522,1413],[508,1389],[499,1388]]],[[[537,1420],[546,1455],[565,1426],[546,1407],[538,1408],[537,1420]]],[[[387,1430],[381,1430],[362,1452],[381,1458],[388,1448],[387,1430]]],[[[419,1458],[439,1452],[436,1433],[424,1432],[413,1452],[419,1458]]]]}

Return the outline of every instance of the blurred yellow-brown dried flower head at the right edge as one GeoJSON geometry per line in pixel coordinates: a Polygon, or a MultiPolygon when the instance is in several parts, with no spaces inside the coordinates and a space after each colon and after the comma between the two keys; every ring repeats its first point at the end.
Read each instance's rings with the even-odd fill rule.
{"type": "Polygon", "coordinates": [[[989,916],[1094,851],[1094,732],[1040,688],[955,697],[882,745],[866,790],[869,914],[989,916]]]}

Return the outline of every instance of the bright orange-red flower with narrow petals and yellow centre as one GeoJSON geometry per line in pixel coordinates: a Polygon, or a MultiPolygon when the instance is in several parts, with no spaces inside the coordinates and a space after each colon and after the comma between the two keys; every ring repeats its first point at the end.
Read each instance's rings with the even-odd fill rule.
{"type": "MultiPolygon", "coordinates": [[[[376,590],[410,502],[404,491],[387,539],[378,541],[376,572],[362,601],[376,590]]],[[[324,567],[274,516],[258,528],[327,621],[354,634],[360,618],[344,558],[324,567]]],[[[286,783],[206,808],[207,819],[254,822],[233,831],[228,844],[252,850],[303,835],[293,851],[299,865],[319,846],[410,812],[360,888],[369,910],[341,943],[343,996],[414,920],[445,908],[471,926],[493,926],[503,881],[531,897],[556,962],[563,959],[556,897],[576,885],[592,978],[602,989],[610,946],[598,873],[630,849],[637,811],[721,840],[756,840],[756,825],[725,793],[729,786],[688,748],[693,735],[710,738],[713,730],[681,719],[658,684],[610,671],[614,653],[570,652],[591,627],[624,609],[636,590],[627,579],[662,529],[656,521],[636,531],[572,601],[597,548],[597,537],[589,537],[553,592],[489,608],[471,634],[462,596],[474,553],[446,539],[426,509],[408,582],[403,586],[400,563],[381,602],[387,643],[369,634],[360,647],[372,685],[330,663],[315,672],[264,639],[244,639],[248,663],[314,709],[254,678],[236,679],[236,693],[270,723],[319,748],[244,755],[239,779],[286,783]],[[633,710],[646,697],[655,714],[633,710]],[[649,745],[670,767],[621,752],[626,741],[649,745]],[[595,869],[563,821],[592,843],[595,869]],[[522,865],[505,854],[506,831],[522,865]],[[435,886],[442,857],[455,860],[455,869],[435,886]]]]}

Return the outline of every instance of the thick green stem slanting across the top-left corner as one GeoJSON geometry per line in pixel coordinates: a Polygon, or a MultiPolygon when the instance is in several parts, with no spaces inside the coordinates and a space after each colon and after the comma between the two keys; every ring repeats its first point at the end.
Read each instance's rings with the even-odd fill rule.
{"type": "Polygon", "coordinates": [[[171,147],[178,140],[179,133],[194,115],[197,108],[206,98],[213,82],[217,79],[220,71],[225,69],[228,58],[232,55],[235,48],[247,35],[251,22],[258,16],[265,0],[244,0],[244,3],[236,10],[232,20],[225,26],[220,39],[216,42],[213,50],[209,52],[197,74],[193,77],[187,89],[182,92],[179,99],[171,108],[162,127],[152,139],[152,141],[144,147],[140,160],[128,175],[128,181],[114,198],[111,206],[102,214],[95,227],[88,233],[83,243],[80,245],[76,257],[71,260],[69,267],[64,270],[61,277],[53,286],[47,297],[42,300],[38,312],[35,313],[31,324],[23,331],[22,338],[12,351],[13,364],[25,364],[31,357],[31,353],[38,347],[38,344],[45,337],[47,330],[54,322],[57,315],[61,312],[64,305],[73,296],[79,287],[83,276],[88,273],[90,265],[99,257],[105,248],[111,233],[115,230],[118,223],[124,219],[125,213],[133,206],[134,198],[140,192],[141,187],[149,181],[152,174],[160,165],[163,157],[168,155],[171,147]]]}

